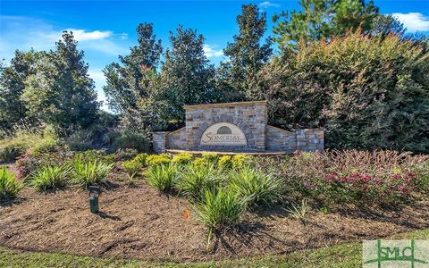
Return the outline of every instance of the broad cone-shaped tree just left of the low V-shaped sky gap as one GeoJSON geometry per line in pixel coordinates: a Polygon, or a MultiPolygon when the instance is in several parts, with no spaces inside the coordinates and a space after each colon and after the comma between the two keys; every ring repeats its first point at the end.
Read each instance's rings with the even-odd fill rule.
{"type": "Polygon", "coordinates": [[[26,80],[21,100],[28,114],[60,130],[86,128],[97,119],[97,93],[88,64],[72,32],[64,31],[56,50],[26,80]]]}

